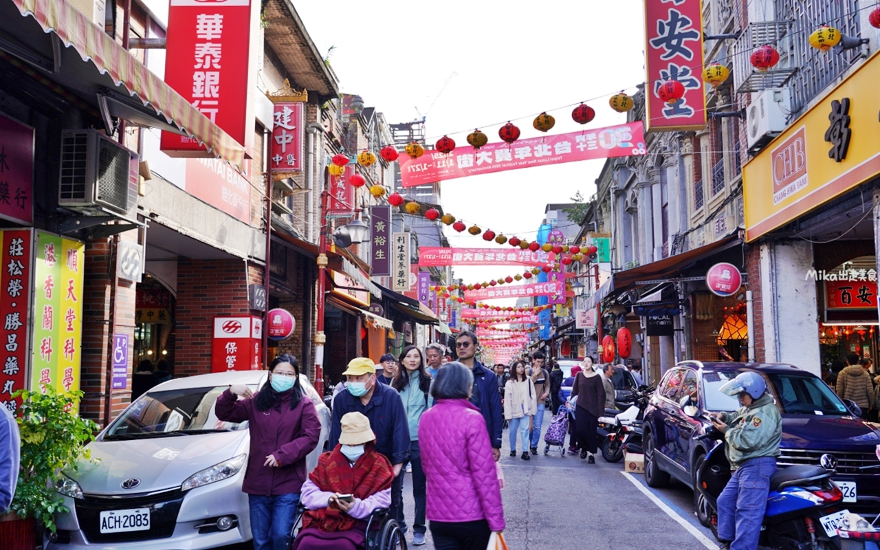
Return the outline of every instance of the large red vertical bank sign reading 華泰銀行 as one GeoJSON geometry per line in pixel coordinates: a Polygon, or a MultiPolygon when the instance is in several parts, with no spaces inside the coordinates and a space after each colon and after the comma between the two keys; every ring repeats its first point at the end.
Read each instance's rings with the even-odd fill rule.
{"type": "MultiPolygon", "coordinates": [[[[165,39],[165,82],[232,139],[253,150],[251,48],[258,0],[171,0],[165,39]]],[[[262,48],[259,48],[262,55],[262,48]]],[[[198,141],[162,132],[174,157],[202,157],[198,141]]]]}

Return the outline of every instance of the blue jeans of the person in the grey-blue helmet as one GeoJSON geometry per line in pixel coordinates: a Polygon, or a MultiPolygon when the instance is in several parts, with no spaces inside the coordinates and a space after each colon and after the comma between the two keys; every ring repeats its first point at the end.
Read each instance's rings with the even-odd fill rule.
{"type": "Polygon", "coordinates": [[[770,492],[770,476],[776,472],[776,458],[747,460],[730,477],[718,496],[718,538],[730,540],[730,550],[758,547],[761,524],[770,492]]]}

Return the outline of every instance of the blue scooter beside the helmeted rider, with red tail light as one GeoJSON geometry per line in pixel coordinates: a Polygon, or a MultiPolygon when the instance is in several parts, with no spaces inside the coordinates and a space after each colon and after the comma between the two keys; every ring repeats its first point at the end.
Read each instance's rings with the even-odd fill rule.
{"type": "MultiPolygon", "coordinates": [[[[723,442],[712,429],[698,439],[723,442]]],[[[819,466],[788,466],[770,478],[770,492],[759,545],[781,550],[832,550],[840,548],[837,529],[849,513],[843,493],[831,479],[832,471],[819,466]]],[[[696,486],[706,499],[710,527],[718,536],[718,496],[730,480],[730,462],[724,444],[715,445],[697,471],[696,486]]]]}

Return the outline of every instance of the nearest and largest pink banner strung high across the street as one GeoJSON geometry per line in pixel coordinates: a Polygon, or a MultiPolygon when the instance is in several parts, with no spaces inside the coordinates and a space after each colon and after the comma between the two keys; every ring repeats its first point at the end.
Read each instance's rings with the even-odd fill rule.
{"type": "MultiPolygon", "coordinates": [[[[699,0],[697,2],[699,4],[699,0]]],[[[414,187],[481,173],[593,158],[629,157],[646,152],[642,121],[637,121],[569,134],[520,139],[512,145],[488,143],[480,150],[466,145],[456,147],[448,155],[439,151],[425,151],[420,158],[401,155],[398,162],[401,185],[414,187]]]]}

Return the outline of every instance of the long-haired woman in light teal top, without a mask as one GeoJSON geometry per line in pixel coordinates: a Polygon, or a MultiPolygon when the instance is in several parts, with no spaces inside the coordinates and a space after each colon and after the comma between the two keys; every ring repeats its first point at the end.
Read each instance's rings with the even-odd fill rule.
{"type": "MultiPolygon", "coordinates": [[[[394,389],[400,392],[403,408],[407,411],[409,424],[409,460],[413,465],[413,500],[415,501],[415,519],[413,523],[413,546],[425,544],[425,474],[422,472],[422,453],[419,449],[419,421],[428,409],[428,391],[431,387],[431,376],[425,370],[422,351],[415,346],[407,346],[400,354],[400,376],[394,382],[394,389]]],[[[400,494],[392,495],[394,510],[400,529],[407,531],[407,522],[403,513],[403,486],[400,494]]]]}

